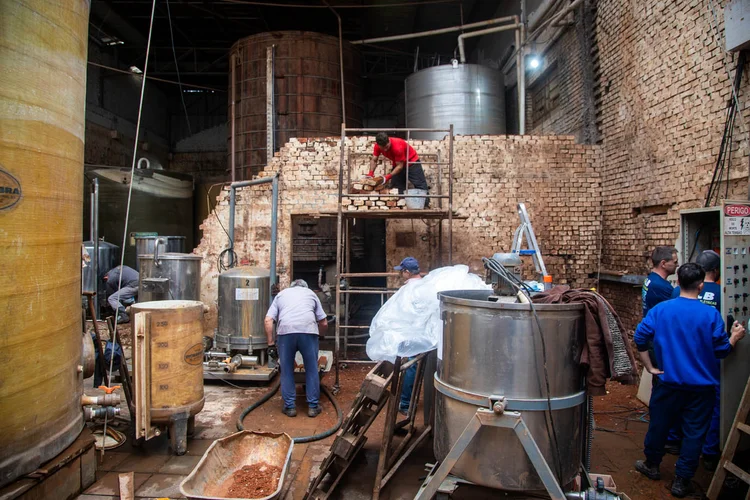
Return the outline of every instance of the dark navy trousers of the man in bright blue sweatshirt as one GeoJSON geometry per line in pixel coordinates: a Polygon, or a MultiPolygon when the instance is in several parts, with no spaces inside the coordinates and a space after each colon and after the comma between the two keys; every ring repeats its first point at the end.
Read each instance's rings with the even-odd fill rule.
{"type": "Polygon", "coordinates": [[[675,474],[683,479],[692,479],[711,425],[715,401],[715,387],[687,389],[664,383],[655,385],[651,391],[651,421],[643,450],[646,459],[653,465],[661,463],[669,430],[681,419],[682,447],[675,474]]]}

